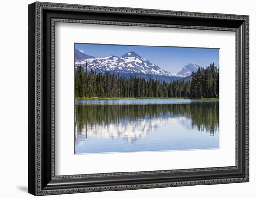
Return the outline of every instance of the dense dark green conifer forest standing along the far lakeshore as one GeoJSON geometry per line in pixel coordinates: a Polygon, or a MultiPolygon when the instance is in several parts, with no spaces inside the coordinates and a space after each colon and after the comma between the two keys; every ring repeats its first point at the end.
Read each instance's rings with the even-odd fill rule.
{"type": "Polygon", "coordinates": [[[216,98],[219,94],[219,70],[211,64],[192,73],[191,81],[165,82],[141,77],[119,77],[119,73],[88,72],[87,66],[77,66],[75,72],[75,97],[140,98],[186,97],[216,98]]]}

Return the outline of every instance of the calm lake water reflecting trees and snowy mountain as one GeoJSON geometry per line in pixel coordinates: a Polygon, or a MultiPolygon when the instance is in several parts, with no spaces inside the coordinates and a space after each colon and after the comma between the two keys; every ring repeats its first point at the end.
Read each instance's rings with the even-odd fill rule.
{"type": "Polygon", "coordinates": [[[76,154],[219,148],[218,100],[81,100],[75,108],[76,154]]]}

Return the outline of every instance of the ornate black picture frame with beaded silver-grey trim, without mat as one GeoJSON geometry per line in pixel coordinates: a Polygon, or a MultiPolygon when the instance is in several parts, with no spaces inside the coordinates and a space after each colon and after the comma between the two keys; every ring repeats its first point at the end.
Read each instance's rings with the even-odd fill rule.
{"type": "Polygon", "coordinates": [[[249,182],[249,16],[35,2],[28,6],[28,192],[65,194],[249,182]],[[55,175],[54,24],[92,23],[236,33],[236,165],[55,175]]]}

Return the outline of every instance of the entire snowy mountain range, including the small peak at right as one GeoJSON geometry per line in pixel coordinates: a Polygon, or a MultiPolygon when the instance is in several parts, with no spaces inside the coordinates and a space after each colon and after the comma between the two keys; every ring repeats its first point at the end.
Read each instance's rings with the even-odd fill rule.
{"type": "Polygon", "coordinates": [[[189,64],[184,66],[180,72],[172,73],[162,70],[159,66],[142,58],[134,51],[125,53],[120,57],[111,55],[95,58],[75,49],[75,66],[81,65],[85,67],[86,64],[88,71],[92,69],[97,73],[109,71],[119,73],[120,76],[125,77],[141,76],[147,80],[159,79],[168,82],[183,79],[199,68],[196,64],[189,64]]]}

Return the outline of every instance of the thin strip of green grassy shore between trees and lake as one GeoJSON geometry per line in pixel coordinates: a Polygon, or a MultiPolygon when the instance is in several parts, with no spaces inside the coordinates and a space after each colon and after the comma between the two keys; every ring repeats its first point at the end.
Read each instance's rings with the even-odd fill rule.
{"type": "MultiPolygon", "coordinates": [[[[75,98],[75,100],[95,100],[95,99],[192,99],[192,98],[166,98],[166,97],[159,97],[159,98],[155,98],[155,97],[150,97],[150,98],[147,98],[147,97],[141,97],[141,98],[126,98],[126,97],[119,97],[119,98],[116,98],[116,97],[113,97],[113,98],[99,98],[99,97],[92,97],[92,98],[75,98]]],[[[218,98],[198,98],[198,99],[193,99],[193,100],[219,100],[218,98]]]]}

